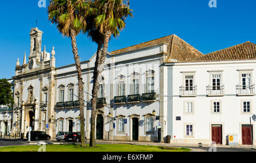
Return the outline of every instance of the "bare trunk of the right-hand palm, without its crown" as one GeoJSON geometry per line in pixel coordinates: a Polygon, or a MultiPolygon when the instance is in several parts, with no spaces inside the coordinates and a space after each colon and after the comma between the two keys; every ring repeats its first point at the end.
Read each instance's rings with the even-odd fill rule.
{"type": "Polygon", "coordinates": [[[98,44],[97,54],[96,54],[96,61],[94,65],[94,72],[93,72],[93,90],[92,90],[92,115],[91,115],[91,123],[90,123],[90,147],[96,147],[96,107],[97,107],[97,97],[98,97],[98,78],[100,76],[100,59],[102,54],[102,44],[98,44]]]}

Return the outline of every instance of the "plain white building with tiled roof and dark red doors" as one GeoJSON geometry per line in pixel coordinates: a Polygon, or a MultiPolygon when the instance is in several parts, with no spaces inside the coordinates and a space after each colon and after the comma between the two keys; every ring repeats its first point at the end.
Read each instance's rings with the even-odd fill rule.
{"type": "Polygon", "coordinates": [[[255,57],[256,45],[245,42],[191,61],[166,63],[172,143],[228,144],[232,135],[230,143],[251,144],[255,57]]]}

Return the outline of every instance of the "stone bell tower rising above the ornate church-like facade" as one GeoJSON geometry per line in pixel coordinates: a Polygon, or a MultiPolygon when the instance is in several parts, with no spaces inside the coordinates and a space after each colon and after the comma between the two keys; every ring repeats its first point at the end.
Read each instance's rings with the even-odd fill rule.
{"type": "Polygon", "coordinates": [[[41,50],[42,50],[42,34],[37,27],[32,28],[30,31],[30,60],[36,58],[36,61],[40,62],[41,50]]]}

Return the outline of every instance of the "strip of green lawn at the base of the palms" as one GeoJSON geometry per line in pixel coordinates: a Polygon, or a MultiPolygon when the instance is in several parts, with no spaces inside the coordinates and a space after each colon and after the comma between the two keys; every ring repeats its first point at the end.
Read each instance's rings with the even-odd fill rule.
{"type": "MultiPolygon", "coordinates": [[[[2,147],[0,152],[38,152],[38,145],[2,147]]],[[[189,152],[188,148],[158,147],[150,145],[97,144],[96,148],[75,144],[46,145],[46,152],[189,152]]]]}

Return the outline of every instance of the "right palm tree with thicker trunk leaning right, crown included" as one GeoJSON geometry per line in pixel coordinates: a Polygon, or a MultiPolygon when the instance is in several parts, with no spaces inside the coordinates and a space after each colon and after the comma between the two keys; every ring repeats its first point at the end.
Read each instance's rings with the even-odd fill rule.
{"type": "MultiPolygon", "coordinates": [[[[108,50],[109,40],[112,35],[118,36],[119,30],[125,28],[125,19],[132,16],[129,7],[129,0],[94,0],[90,2],[90,14],[94,15],[93,27],[88,28],[93,31],[93,36],[97,36],[98,50],[93,72],[93,90],[92,90],[92,115],[90,130],[90,147],[96,147],[95,126],[97,115],[97,93],[99,80],[104,68],[106,52],[108,50]],[[97,33],[97,34],[95,34],[97,33]]],[[[90,35],[92,36],[92,35],[90,35]]]]}

